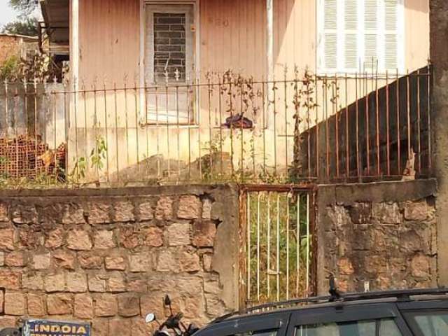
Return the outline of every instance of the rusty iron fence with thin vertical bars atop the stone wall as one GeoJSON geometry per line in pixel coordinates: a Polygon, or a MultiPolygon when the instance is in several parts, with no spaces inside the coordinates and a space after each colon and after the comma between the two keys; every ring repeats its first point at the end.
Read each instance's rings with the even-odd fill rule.
{"type": "Polygon", "coordinates": [[[3,83],[0,186],[417,179],[431,174],[430,92],[429,65],[3,83]]]}

